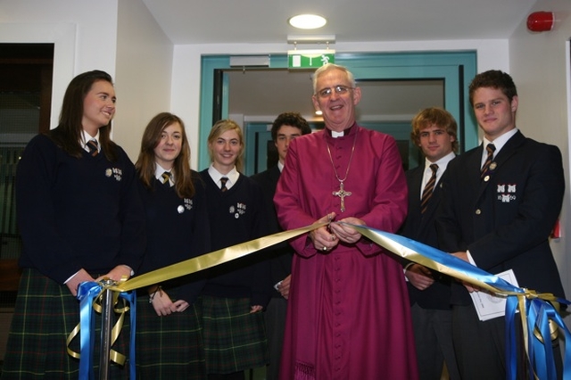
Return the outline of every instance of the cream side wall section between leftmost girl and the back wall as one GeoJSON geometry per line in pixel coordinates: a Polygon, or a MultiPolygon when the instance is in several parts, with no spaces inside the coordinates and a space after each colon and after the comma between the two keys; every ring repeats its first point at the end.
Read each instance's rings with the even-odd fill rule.
{"type": "Polygon", "coordinates": [[[119,2],[113,140],[133,162],[137,161],[149,120],[159,112],[170,111],[173,50],[143,2],[119,2]]]}

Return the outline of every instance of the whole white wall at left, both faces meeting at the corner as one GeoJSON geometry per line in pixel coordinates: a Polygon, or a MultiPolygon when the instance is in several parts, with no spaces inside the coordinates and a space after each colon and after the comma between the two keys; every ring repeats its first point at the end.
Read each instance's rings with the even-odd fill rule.
{"type": "Polygon", "coordinates": [[[170,111],[173,45],[139,0],[2,0],[0,42],[55,43],[51,128],[71,78],[87,70],[112,75],[112,136],[133,161],[148,120],[170,111]]]}

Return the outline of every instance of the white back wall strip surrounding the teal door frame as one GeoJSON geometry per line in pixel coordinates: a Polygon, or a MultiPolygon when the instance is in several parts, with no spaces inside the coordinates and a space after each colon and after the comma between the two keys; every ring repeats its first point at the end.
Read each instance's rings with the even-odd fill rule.
{"type": "MultiPolygon", "coordinates": [[[[507,39],[450,40],[418,42],[338,43],[337,53],[410,52],[410,51],[476,51],[478,70],[509,69],[507,39]]],[[[172,112],[185,120],[191,140],[193,169],[198,162],[201,56],[220,54],[286,54],[293,45],[287,44],[210,44],[175,45],[172,72],[172,112]]],[[[208,101],[208,100],[206,100],[208,101]]]]}

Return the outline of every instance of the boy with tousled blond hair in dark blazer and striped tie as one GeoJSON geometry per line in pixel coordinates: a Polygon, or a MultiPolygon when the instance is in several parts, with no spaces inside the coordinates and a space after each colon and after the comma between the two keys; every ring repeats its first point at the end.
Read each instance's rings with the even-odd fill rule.
{"type": "MultiPolygon", "coordinates": [[[[410,138],[425,160],[405,173],[409,213],[399,233],[438,248],[435,219],[441,202],[440,179],[458,151],[458,126],[451,113],[439,107],[418,112],[411,124],[410,138]]],[[[451,380],[459,380],[452,344],[451,277],[409,260],[403,266],[409,288],[418,378],[440,379],[445,361],[451,380]]]]}

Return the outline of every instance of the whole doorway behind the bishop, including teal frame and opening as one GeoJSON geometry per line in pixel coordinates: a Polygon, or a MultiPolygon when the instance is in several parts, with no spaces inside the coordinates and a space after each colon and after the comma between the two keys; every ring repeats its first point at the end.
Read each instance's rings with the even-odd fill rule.
{"type": "MultiPolygon", "coordinates": [[[[204,56],[202,61],[201,169],[210,163],[206,136],[219,119],[236,120],[248,136],[246,175],[264,169],[268,153],[263,150],[269,146],[267,128],[278,113],[297,111],[310,123],[319,122],[310,102],[312,70],[299,74],[288,70],[286,55],[272,55],[267,68],[231,67],[229,56],[204,56]],[[256,75],[263,79],[254,78],[256,75]],[[257,110],[251,111],[245,105],[250,100],[257,110]],[[299,100],[297,105],[292,103],[295,100],[299,100]],[[258,130],[252,132],[250,128],[258,130]]],[[[402,148],[407,168],[416,166],[420,159],[409,141],[410,120],[424,107],[440,105],[451,112],[459,124],[460,152],[477,145],[477,127],[468,104],[468,83],[476,75],[476,52],[337,54],[335,63],[352,70],[364,91],[357,121],[393,135],[402,148]],[[368,111],[369,104],[373,111],[368,111]]]]}

